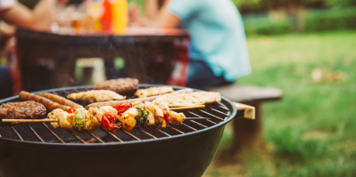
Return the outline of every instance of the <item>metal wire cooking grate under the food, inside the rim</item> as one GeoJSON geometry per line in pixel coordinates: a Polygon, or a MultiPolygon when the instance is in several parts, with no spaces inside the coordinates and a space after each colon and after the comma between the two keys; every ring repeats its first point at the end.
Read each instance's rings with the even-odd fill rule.
{"type": "MultiPolygon", "coordinates": [[[[143,88],[141,86],[141,88],[143,88]]],[[[144,87],[145,88],[145,87],[144,87]]],[[[70,93],[78,93],[83,91],[91,90],[91,87],[80,87],[80,88],[68,88],[68,89],[54,89],[52,92],[60,96],[66,97],[70,93]]],[[[51,90],[50,90],[51,91],[51,90]]],[[[38,92],[39,93],[39,92],[38,92]]],[[[130,95],[128,95],[130,96],[130,95]]],[[[20,99],[12,99],[9,101],[20,101],[20,99]]],[[[222,100],[224,102],[224,99],[222,100]]],[[[78,102],[83,104],[83,102],[78,102]]],[[[226,102],[225,102],[226,103],[226,102]]],[[[85,131],[84,133],[74,133],[73,131],[64,131],[61,128],[52,129],[49,127],[49,123],[32,123],[34,127],[29,124],[25,125],[2,125],[1,129],[10,127],[12,133],[4,133],[0,131],[1,138],[7,139],[17,139],[20,141],[41,141],[49,143],[110,143],[110,142],[125,142],[125,141],[145,141],[153,139],[161,139],[165,137],[172,137],[187,133],[196,133],[209,128],[213,125],[219,125],[223,123],[229,115],[231,115],[230,109],[228,109],[223,103],[214,103],[206,105],[203,109],[189,109],[189,110],[178,110],[178,112],[183,112],[186,117],[210,117],[210,120],[186,120],[181,125],[168,125],[165,129],[158,129],[153,126],[148,126],[147,128],[135,128],[131,132],[127,132],[120,129],[117,133],[111,133],[104,131],[103,129],[97,129],[93,132],[85,131]],[[28,130],[25,130],[25,127],[28,130]],[[37,131],[35,130],[37,129],[37,131]],[[22,134],[22,136],[21,136],[22,134]],[[36,138],[33,138],[35,135],[36,138]],[[70,135],[73,138],[70,138],[70,135]],[[51,136],[51,137],[50,137],[51,136]],[[25,140],[24,140],[25,139],[25,140]],[[63,140],[64,139],[64,140],[63,140]]]]}

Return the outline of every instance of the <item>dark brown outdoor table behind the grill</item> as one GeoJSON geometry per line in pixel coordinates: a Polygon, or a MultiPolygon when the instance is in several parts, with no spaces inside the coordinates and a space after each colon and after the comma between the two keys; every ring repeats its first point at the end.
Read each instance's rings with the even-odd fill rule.
{"type": "MultiPolygon", "coordinates": [[[[54,34],[19,28],[16,37],[21,70],[38,63],[48,65],[54,72],[52,88],[75,84],[79,58],[103,58],[107,79],[115,77],[111,71],[113,59],[122,57],[128,76],[138,78],[140,83],[176,85],[171,81],[172,72],[178,62],[188,60],[189,36],[183,29],[128,28],[125,35],[117,36],[54,34]]],[[[22,74],[23,77],[26,76],[22,74]]]]}

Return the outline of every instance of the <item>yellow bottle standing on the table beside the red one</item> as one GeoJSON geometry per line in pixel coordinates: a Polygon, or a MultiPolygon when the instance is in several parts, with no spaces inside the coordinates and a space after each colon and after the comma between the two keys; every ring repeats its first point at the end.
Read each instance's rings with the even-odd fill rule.
{"type": "Polygon", "coordinates": [[[115,0],[112,4],[112,29],[114,34],[123,35],[128,27],[128,1],[115,0]]]}

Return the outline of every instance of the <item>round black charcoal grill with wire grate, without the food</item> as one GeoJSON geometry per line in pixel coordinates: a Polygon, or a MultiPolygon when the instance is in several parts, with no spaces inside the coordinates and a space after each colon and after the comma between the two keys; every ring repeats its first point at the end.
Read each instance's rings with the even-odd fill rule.
{"type": "MultiPolygon", "coordinates": [[[[160,85],[139,87],[152,86],[160,85]]],[[[79,86],[37,93],[66,97],[91,89],[79,86]]],[[[12,101],[21,99],[14,96],[0,103],[12,101]]],[[[236,108],[222,97],[204,109],[178,112],[211,119],[118,133],[64,131],[49,123],[1,125],[0,176],[201,176],[215,156],[225,125],[236,116],[236,108]]]]}

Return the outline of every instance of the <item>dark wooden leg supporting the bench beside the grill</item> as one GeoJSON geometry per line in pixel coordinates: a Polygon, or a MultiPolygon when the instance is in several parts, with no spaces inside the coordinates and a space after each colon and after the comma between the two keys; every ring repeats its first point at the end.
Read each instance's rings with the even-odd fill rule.
{"type": "Polygon", "coordinates": [[[234,152],[241,149],[251,149],[262,142],[261,102],[244,102],[244,104],[253,106],[256,109],[256,117],[254,120],[239,117],[234,119],[234,139],[232,147],[234,152]]]}

